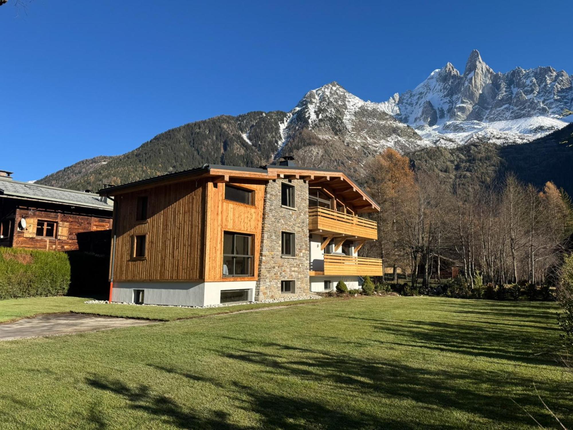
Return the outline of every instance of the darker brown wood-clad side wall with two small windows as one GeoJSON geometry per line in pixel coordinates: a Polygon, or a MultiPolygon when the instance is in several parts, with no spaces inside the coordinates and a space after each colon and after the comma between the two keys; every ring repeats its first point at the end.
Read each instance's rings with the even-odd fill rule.
{"type": "Polygon", "coordinates": [[[188,181],[119,194],[115,200],[113,279],[159,281],[203,278],[205,181],[188,181]],[[137,198],[147,196],[147,221],[136,221],[137,198]],[[146,257],[134,258],[134,238],[145,234],[146,257]]]}

